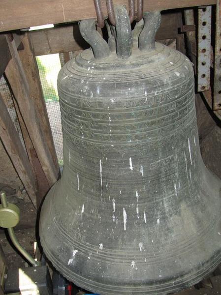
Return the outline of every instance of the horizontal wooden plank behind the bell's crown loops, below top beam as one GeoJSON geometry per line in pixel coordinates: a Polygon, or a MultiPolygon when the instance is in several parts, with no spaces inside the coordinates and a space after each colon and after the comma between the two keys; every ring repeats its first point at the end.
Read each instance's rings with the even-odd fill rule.
{"type": "MultiPolygon", "coordinates": [[[[181,27],[181,15],[177,12],[163,13],[156,39],[176,38],[181,27]]],[[[29,32],[36,56],[79,51],[89,47],[82,38],[78,24],[57,26],[29,32]]]]}

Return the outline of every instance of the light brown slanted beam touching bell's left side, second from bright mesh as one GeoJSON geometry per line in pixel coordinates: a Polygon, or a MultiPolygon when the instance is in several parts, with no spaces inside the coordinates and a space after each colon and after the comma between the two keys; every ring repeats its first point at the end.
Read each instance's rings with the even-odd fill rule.
{"type": "MultiPolygon", "coordinates": [[[[23,41],[25,43],[25,39],[23,41]]],[[[54,163],[51,149],[48,146],[50,132],[45,130],[46,127],[42,128],[42,122],[44,121],[43,117],[45,114],[42,109],[43,102],[40,101],[40,97],[35,96],[38,95],[38,93],[35,92],[37,91],[36,86],[33,87],[33,85],[37,85],[38,82],[31,69],[30,64],[32,64],[32,58],[30,58],[29,52],[27,51],[27,65],[24,69],[14,41],[10,41],[7,37],[7,42],[12,59],[8,63],[5,75],[18,103],[21,116],[26,124],[37,157],[51,187],[58,179],[59,169],[58,165],[55,165],[54,163]],[[28,68],[29,71],[27,70],[28,68]],[[32,83],[29,84],[31,80],[32,83]]],[[[24,49],[24,52],[25,50],[26,49],[24,49]]],[[[50,128],[49,125],[47,128],[50,128]]]]}

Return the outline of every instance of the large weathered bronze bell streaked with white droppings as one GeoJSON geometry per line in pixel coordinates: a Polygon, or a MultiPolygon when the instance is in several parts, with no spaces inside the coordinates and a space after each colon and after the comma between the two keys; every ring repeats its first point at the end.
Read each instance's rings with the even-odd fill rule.
{"type": "Polygon", "coordinates": [[[108,44],[80,23],[92,50],[59,73],[64,169],[40,239],[86,290],[168,294],[221,262],[221,181],[200,155],[192,65],[154,41],[160,13],[132,32],[126,8],[115,14],[108,44]]]}

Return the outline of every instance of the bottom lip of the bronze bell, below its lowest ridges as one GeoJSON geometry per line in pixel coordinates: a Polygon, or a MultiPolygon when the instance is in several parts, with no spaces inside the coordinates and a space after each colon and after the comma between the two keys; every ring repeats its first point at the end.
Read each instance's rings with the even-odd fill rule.
{"type": "MultiPolygon", "coordinates": [[[[41,240],[41,239],[40,239],[41,240]]],[[[41,240],[41,245],[46,250],[46,244],[41,240]]],[[[54,260],[54,257],[50,255],[50,252],[44,252],[48,260],[52,263],[52,265],[70,282],[73,282],[76,286],[79,286],[87,291],[100,293],[101,295],[128,295],[136,292],[137,295],[165,295],[171,292],[179,292],[188,287],[191,287],[200,280],[202,280],[207,274],[213,272],[216,267],[221,263],[221,249],[218,250],[209,260],[204,262],[204,264],[199,264],[196,271],[189,271],[184,274],[180,274],[175,279],[174,277],[166,278],[164,280],[159,280],[158,283],[147,283],[144,285],[142,283],[142,289],[140,284],[131,286],[122,286],[122,285],[105,285],[99,282],[92,281],[90,279],[86,279],[81,277],[79,274],[75,273],[72,276],[69,275],[70,271],[65,271],[63,268],[63,264],[54,260]],[[185,279],[186,278],[186,279],[185,279]],[[188,278],[188,279],[187,279],[188,278]],[[86,283],[88,281],[88,283],[86,283]],[[112,289],[108,289],[112,288],[112,289]],[[139,290],[139,293],[137,292],[139,290]],[[149,289],[149,290],[148,290],[149,289]],[[157,293],[156,293],[157,292],[157,293]]]]}

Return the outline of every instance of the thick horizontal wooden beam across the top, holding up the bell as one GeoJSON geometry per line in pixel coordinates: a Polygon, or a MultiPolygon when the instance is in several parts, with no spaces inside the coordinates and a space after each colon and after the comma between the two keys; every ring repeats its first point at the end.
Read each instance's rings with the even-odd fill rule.
{"type": "MultiPolygon", "coordinates": [[[[103,15],[107,16],[105,1],[101,2],[103,15]]],[[[114,0],[114,4],[125,4],[128,7],[128,0],[114,0]]],[[[155,11],[209,4],[216,4],[216,0],[144,0],[144,10],[155,11]]],[[[93,0],[1,0],[0,31],[95,17],[93,0]]]]}

